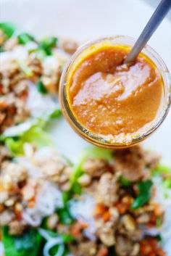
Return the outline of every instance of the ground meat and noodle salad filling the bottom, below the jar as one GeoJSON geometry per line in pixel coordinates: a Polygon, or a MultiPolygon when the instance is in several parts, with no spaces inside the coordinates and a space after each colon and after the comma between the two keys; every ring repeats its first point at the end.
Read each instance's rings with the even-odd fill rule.
{"type": "Polygon", "coordinates": [[[26,143],[20,157],[1,146],[5,255],[169,255],[168,181],[139,146],[86,149],[76,166],[47,146],[26,143]]]}

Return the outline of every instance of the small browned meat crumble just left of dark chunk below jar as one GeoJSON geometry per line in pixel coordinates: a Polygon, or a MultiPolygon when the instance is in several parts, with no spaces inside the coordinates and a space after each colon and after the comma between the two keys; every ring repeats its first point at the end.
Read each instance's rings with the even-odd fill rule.
{"type": "Polygon", "coordinates": [[[101,175],[108,170],[107,167],[107,162],[100,159],[89,159],[83,163],[84,172],[88,173],[92,178],[101,177],[101,175]]]}

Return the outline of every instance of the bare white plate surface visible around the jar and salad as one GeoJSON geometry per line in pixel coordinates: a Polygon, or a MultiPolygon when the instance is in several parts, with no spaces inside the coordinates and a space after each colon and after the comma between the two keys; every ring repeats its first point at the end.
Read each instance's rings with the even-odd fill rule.
{"type": "MultiPolygon", "coordinates": [[[[1,20],[35,36],[57,35],[80,42],[101,36],[138,37],[153,9],[141,0],[1,0],[1,20]]],[[[149,41],[171,71],[171,24],[165,19],[149,41]]],[[[51,128],[57,148],[76,160],[87,143],[60,120],[51,128]]],[[[171,112],[145,146],[171,163],[171,112]]]]}

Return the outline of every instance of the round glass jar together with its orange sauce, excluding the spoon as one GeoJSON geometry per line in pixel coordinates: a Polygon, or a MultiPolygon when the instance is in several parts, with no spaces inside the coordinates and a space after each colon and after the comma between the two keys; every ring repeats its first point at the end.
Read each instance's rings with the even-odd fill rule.
{"type": "Polygon", "coordinates": [[[78,49],[59,85],[64,117],[97,146],[120,148],[146,139],[170,107],[170,74],[146,46],[132,65],[122,65],[134,38],[114,36],[78,49]]]}

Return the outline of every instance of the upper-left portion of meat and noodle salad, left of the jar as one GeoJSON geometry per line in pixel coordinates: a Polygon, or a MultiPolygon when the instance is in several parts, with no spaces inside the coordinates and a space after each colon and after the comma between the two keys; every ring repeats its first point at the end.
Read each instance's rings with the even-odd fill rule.
{"type": "Polygon", "coordinates": [[[59,115],[59,78],[77,47],[54,36],[37,40],[0,23],[0,133],[30,117],[59,115]]]}

